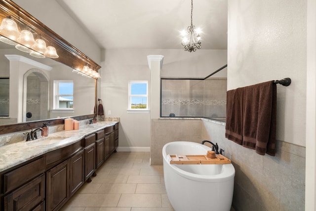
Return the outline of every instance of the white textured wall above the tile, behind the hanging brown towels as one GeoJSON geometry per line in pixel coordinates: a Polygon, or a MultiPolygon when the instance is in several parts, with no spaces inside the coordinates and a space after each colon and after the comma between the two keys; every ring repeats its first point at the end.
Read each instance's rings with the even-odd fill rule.
{"type": "Polygon", "coordinates": [[[228,90],[277,85],[276,139],[305,146],[306,0],[229,0],[228,90]]]}

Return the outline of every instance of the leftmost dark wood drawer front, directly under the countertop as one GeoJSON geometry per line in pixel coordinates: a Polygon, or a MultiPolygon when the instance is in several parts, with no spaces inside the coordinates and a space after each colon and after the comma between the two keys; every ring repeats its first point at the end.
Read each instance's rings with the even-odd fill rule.
{"type": "Polygon", "coordinates": [[[3,175],[3,193],[7,193],[27,181],[35,178],[36,176],[44,173],[45,161],[44,158],[33,161],[32,163],[26,164],[16,170],[8,172],[3,175]]]}

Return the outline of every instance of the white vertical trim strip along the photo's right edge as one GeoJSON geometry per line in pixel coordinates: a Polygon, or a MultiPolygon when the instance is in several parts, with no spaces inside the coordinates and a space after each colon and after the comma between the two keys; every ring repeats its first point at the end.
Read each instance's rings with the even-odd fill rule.
{"type": "Polygon", "coordinates": [[[305,210],[316,210],[316,0],[307,1],[305,210]]]}

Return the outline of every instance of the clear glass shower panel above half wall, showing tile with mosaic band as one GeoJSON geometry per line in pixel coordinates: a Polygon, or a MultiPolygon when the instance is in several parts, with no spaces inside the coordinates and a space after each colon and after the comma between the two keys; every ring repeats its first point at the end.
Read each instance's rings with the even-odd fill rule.
{"type": "Polygon", "coordinates": [[[227,66],[209,76],[161,78],[161,117],[226,120],[227,66]]]}

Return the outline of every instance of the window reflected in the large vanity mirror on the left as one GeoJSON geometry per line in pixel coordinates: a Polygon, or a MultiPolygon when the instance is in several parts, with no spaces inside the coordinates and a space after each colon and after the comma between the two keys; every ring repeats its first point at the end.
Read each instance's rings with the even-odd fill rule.
{"type": "Polygon", "coordinates": [[[54,109],[73,109],[74,82],[54,80],[54,109]]]}

